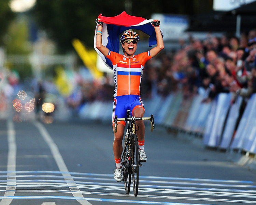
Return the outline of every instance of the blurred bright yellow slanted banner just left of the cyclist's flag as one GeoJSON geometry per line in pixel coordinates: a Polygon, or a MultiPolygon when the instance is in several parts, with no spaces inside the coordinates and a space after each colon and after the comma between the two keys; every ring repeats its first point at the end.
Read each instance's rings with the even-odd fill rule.
{"type": "Polygon", "coordinates": [[[102,77],[103,73],[100,72],[96,67],[98,53],[95,50],[86,49],[81,41],[76,38],[73,39],[72,45],[79,57],[82,59],[85,66],[89,69],[91,75],[96,79],[102,77]]]}

